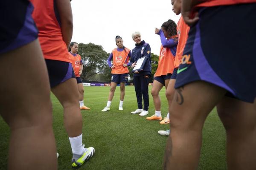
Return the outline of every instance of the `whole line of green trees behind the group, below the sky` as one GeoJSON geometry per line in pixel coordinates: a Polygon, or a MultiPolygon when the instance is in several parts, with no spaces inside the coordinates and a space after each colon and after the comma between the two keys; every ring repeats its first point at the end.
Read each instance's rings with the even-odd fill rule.
{"type": "MultiPolygon", "coordinates": [[[[107,63],[110,53],[107,53],[102,45],[79,43],[78,54],[81,56],[84,66],[81,79],[103,82],[111,81],[111,69],[107,63]]],[[[153,78],[157,70],[158,58],[159,56],[151,53],[151,78],[153,78]]],[[[132,68],[128,68],[131,73],[132,68]]],[[[130,78],[131,80],[133,79],[133,74],[130,74],[130,78]]]]}

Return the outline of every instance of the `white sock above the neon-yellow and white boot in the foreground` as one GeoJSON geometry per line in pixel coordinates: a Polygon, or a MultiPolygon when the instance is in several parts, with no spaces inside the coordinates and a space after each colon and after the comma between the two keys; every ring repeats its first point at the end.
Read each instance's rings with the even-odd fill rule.
{"type": "Polygon", "coordinates": [[[71,144],[73,154],[77,154],[77,155],[84,154],[84,147],[82,144],[82,136],[83,136],[83,133],[81,135],[73,137],[73,138],[68,137],[70,139],[70,144],[71,144]]]}

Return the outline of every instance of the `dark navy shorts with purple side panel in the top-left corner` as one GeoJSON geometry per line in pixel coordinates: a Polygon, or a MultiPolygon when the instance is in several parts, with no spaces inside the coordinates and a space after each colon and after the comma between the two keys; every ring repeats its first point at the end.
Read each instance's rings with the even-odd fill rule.
{"type": "Polygon", "coordinates": [[[38,29],[32,19],[33,5],[28,0],[0,2],[0,54],[15,50],[38,38],[38,29]],[[15,5],[13,5],[15,3],[15,5]]]}

